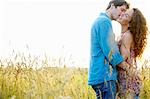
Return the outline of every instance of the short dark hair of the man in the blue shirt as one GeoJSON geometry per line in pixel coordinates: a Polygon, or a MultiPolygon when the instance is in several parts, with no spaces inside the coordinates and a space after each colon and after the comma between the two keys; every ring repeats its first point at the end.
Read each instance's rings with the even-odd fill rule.
{"type": "Polygon", "coordinates": [[[129,3],[127,3],[125,0],[111,0],[108,4],[108,7],[106,10],[108,10],[111,7],[111,4],[114,4],[114,6],[117,8],[117,6],[125,5],[127,9],[129,9],[129,3]]]}

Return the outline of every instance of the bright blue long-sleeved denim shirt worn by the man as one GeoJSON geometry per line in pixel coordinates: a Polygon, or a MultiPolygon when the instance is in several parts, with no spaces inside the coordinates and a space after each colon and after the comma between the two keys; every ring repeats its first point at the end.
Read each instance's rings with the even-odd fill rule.
{"type": "Polygon", "coordinates": [[[91,54],[88,84],[96,85],[117,80],[116,67],[123,61],[119,52],[111,19],[101,13],[91,29],[91,54]]]}

